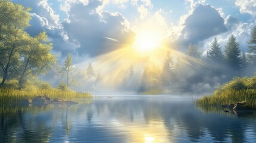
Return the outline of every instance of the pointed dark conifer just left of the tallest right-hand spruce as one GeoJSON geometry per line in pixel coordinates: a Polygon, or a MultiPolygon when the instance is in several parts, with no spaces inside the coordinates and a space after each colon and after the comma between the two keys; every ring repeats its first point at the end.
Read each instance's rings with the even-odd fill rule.
{"type": "Polygon", "coordinates": [[[211,43],[211,48],[207,52],[207,57],[214,63],[220,63],[224,59],[224,55],[221,52],[220,43],[218,43],[216,38],[214,38],[214,41],[211,43]]]}

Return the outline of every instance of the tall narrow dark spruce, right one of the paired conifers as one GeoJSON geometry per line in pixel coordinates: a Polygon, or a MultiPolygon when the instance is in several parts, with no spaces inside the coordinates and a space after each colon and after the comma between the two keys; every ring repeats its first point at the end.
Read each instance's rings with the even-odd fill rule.
{"type": "Polygon", "coordinates": [[[227,64],[229,64],[230,67],[238,71],[241,66],[241,61],[240,61],[240,49],[239,49],[239,43],[236,41],[236,37],[234,35],[231,35],[229,37],[229,40],[227,41],[226,44],[226,60],[227,64]]]}

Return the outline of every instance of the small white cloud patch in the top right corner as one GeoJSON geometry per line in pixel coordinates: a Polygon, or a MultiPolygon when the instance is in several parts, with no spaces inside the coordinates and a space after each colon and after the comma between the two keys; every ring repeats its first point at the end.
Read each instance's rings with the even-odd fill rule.
{"type": "Polygon", "coordinates": [[[240,8],[240,13],[256,16],[256,0],[236,0],[235,5],[240,8]]]}

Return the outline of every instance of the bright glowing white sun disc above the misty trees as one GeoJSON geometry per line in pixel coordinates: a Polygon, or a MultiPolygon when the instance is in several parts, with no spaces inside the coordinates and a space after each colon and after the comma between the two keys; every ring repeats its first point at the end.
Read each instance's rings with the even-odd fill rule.
{"type": "Polygon", "coordinates": [[[153,52],[161,46],[162,35],[153,30],[140,31],[136,33],[133,47],[141,54],[153,52]]]}

